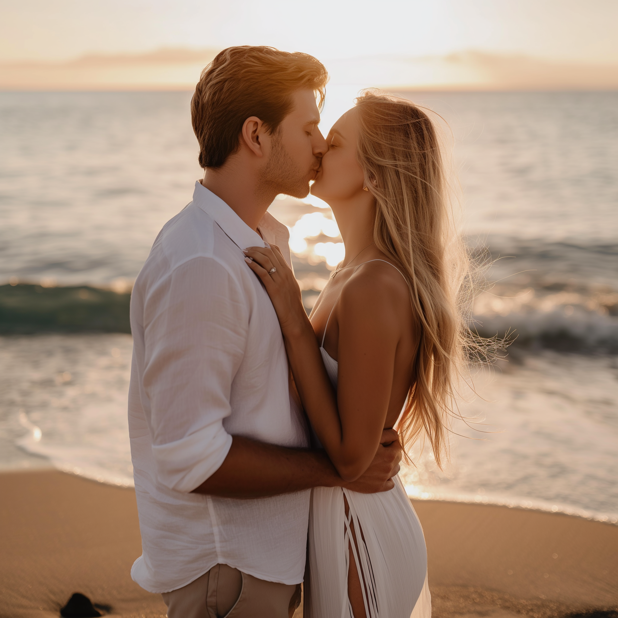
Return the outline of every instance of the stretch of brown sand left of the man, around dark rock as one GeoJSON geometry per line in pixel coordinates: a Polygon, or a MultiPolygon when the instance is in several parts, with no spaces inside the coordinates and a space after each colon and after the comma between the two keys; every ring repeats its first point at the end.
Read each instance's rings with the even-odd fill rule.
{"type": "Polygon", "coordinates": [[[57,617],[74,592],[117,616],[165,616],[130,577],[142,552],[133,489],[45,470],[1,474],[0,495],[2,618],[57,617]]]}

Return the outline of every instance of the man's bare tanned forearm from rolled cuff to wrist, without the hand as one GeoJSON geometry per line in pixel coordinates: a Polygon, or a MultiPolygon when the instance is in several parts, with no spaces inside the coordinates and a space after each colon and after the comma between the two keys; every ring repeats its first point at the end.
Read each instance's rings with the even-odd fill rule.
{"type": "Polygon", "coordinates": [[[234,436],[221,467],[193,492],[256,498],[341,484],[324,451],[290,449],[234,436]]]}

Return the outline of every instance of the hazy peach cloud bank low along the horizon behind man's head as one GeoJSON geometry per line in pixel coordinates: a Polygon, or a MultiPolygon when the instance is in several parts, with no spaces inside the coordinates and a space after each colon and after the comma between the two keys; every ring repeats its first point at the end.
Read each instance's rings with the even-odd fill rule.
{"type": "MultiPolygon", "coordinates": [[[[0,64],[2,90],[192,90],[218,49],[88,54],[68,62],[0,64]]],[[[616,90],[618,65],[463,51],[325,61],[331,83],[398,90],[616,90]]]]}

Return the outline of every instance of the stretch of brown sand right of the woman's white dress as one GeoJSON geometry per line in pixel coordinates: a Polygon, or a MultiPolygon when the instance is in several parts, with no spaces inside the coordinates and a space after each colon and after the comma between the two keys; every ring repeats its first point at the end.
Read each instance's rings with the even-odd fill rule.
{"type": "Polygon", "coordinates": [[[413,505],[434,618],[618,610],[618,526],[498,506],[413,505]]]}

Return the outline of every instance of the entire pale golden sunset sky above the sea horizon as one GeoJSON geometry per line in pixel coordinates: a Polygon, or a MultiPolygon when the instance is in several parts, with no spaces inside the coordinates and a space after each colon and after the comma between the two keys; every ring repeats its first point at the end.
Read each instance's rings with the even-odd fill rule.
{"type": "MultiPolygon", "coordinates": [[[[140,54],[161,48],[195,53],[234,44],[306,51],[326,63],[334,83],[491,85],[505,72],[525,74],[532,65],[517,57],[528,56],[541,63],[530,87],[556,72],[567,82],[554,75],[549,87],[618,86],[616,0],[0,0],[0,18],[0,88],[88,79],[94,87],[135,80],[180,87],[194,83],[208,51],[159,64],[150,57],[150,68],[137,72],[122,59],[103,69],[98,58],[95,72],[87,70],[91,61],[70,63],[133,54],[129,64],[143,65],[140,54]],[[54,64],[43,71],[41,62],[54,64]],[[581,79],[570,75],[574,64],[581,79]]],[[[520,77],[497,87],[522,87],[520,77]]]]}

